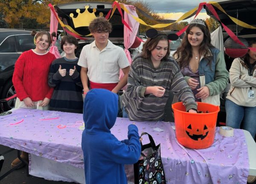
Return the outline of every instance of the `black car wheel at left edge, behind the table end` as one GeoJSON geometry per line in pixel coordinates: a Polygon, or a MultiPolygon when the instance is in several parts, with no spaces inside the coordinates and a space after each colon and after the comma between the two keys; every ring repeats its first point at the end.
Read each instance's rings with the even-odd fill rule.
{"type": "MultiPolygon", "coordinates": [[[[6,85],[3,87],[0,99],[6,99],[16,93],[15,88],[12,84],[12,80],[6,82],[6,85]]],[[[3,102],[3,110],[7,111],[15,107],[16,97],[10,99],[8,102],[3,102]]]]}

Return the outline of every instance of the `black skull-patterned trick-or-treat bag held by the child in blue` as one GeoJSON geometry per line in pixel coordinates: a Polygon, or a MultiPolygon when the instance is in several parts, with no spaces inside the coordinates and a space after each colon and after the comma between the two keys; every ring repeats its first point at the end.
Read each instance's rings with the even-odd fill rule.
{"type": "Polygon", "coordinates": [[[160,144],[156,146],[148,133],[140,137],[143,135],[148,135],[150,143],[141,145],[140,159],[134,164],[134,184],[166,184],[160,144]]]}

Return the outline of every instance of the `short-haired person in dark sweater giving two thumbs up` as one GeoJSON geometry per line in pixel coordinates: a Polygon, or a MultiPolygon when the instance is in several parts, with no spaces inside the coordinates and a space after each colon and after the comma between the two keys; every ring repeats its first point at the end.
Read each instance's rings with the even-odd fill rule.
{"type": "Polygon", "coordinates": [[[78,41],[73,36],[64,36],[61,49],[66,56],[52,62],[48,75],[48,85],[54,88],[49,110],[83,113],[81,67],[77,65],[75,49],[78,41]]]}

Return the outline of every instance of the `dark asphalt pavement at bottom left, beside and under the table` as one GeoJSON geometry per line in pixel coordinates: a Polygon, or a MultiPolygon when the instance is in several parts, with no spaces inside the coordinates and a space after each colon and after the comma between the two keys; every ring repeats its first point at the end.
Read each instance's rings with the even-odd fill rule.
{"type": "MultiPolygon", "coordinates": [[[[9,147],[0,145],[0,153],[9,150],[9,147]]],[[[3,168],[0,176],[11,168],[11,162],[17,157],[17,151],[12,151],[4,156],[3,168]]],[[[0,184],[76,184],[64,181],[49,181],[35,176],[26,176],[26,167],[15,170],[0,181],[0,184]]]]}

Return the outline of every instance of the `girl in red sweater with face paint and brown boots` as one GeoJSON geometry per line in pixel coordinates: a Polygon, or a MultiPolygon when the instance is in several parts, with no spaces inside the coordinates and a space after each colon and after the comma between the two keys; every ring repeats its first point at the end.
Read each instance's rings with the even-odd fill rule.
{"type": "MultiPolygon", "coordinates": [[[[53,33],[55,34],[55,33],[53,33]]],[[[32,31],[35,36],[35,49],[23,52],[15,63],[12,82],[17,93],[15,108],[48,110],[53,88],[48,86],[48,73],[55,56],[47,49],[52,43],[52,36],[47,31],[32,31]]],[[[28,161],[28,153],[21,157],[28,161]]],[[[11,166],[21,161],[15,159],[11,166]]]]}

